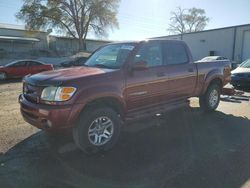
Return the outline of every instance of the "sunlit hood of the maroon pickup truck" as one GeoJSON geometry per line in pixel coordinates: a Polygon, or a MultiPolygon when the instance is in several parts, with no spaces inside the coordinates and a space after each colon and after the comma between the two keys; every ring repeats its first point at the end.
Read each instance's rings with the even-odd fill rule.
{"type": "Polygon", "coordinates": [[[114,70],[96,67],[74,67],[68,69],[46,71],[32,76],[27,76],[24,78],[24,82],[41,86],[61,85],[64,81],[104,74],[111,71],[114,70]]]}

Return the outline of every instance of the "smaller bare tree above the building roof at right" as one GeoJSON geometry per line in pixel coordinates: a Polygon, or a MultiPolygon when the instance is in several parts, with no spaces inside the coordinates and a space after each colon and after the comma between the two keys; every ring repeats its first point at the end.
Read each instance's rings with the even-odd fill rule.
{"type": "Polygon", "coordinates": [[[168,31],[175,34],[202,31],[209,22],[205,14],[204,9],[177,7],[175,12],[171,12],[168,31]]]}

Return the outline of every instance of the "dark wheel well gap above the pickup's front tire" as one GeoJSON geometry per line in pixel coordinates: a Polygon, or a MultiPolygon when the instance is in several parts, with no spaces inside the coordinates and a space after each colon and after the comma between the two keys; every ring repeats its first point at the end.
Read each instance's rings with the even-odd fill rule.
{"type": "Polygon", "coordinates": [[[93,106],[101,107],[106,106],[110,107],[113,110],[115,110],[123,119],[124,118],[124,108],[123,105],[120,103],[120,101],[114,97],[105,97],[100,99],[95,99],[89,103],[83,108],[82,111],[86,110],[87,108],[92,108],[93,106]]]}

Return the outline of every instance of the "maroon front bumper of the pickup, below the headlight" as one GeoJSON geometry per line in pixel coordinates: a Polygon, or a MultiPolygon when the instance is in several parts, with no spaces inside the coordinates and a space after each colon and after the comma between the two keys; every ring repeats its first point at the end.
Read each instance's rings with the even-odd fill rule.
{"type": "Polygon", "coordinates": [[[75,124],[82,105],[52,106],[35,104],[19,96],[20,111],[24,120],[44,130],[70,129],[75,124]]]}

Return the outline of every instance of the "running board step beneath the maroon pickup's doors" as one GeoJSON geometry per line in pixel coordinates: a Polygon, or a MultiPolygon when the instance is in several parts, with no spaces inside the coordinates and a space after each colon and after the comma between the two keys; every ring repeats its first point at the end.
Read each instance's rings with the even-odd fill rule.
{"type": "Polygon", "coordinates": [[[125,121],[136,121],[139,119],[143,119],[145,117],[155,116],[160,113],[165,113],[171,110],[175,110],[175,109],[178,109],[181,107],[187,107],[187,106],[189,106],[189,100],[178,101],[178,102],[168,103],[164,105],[157,105],[157,106],[145,108],[142,110],[135,110],[127,114],[127,116],[125,117],[125,121]]]}

